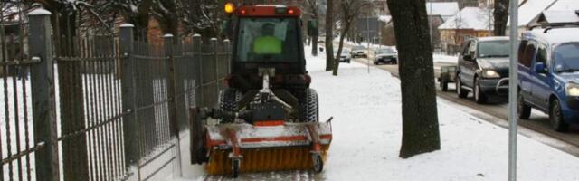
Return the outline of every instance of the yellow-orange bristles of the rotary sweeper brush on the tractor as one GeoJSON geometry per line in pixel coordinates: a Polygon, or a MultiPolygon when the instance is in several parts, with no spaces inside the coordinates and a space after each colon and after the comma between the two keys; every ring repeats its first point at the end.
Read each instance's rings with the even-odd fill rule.
{"type": "MultiPolygon", "coordinates": [[[[325,161],[329,146],[322,146],[322,159],[325,161]]],[[[309,147],[289,148],[252,148],[242,149],[241,173],[266,172],[279,170],[311,169],[312,160],[309,147]]],[[[212,150],[205,170],[209,175],[232,173],[231,150],[212,150]]]]}

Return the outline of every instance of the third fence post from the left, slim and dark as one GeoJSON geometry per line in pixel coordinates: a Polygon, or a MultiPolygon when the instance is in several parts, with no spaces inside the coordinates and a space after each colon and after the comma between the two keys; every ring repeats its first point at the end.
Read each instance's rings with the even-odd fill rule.
{"type": "MultiPolygon", "coordinates": [[[[176,89],[176,81],[179,81],[179,78],[176,76],[175,70],[175,50],[174,50],[174,43],[175,39],[173,34],[165,34],[163,36],[165,46],[165,56],[167,57],[167,98],[171,100],[168,105],[168,113],[169,113],[169,129],[171,130],[171,135],[175,137],[175,145],[176,145],[176,163],[177,163],[177,176],[182,176],[181,173],[181,142],[179,140],[179,122],[177,121],[178,114],[177,108],[178,106],[178,98],[177,98],[177,89],[176,89]]],[[[185,110],[182,110],[182,112],[185,110]]]]}

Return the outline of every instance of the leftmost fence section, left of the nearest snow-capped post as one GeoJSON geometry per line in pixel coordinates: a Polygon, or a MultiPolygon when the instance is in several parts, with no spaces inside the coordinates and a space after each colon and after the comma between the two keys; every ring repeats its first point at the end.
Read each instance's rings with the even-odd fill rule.
{"type": "MultiPolygon", "coordinates": [[[[27,25],[17,4],[0,7],[0,180],[33,179],[34,152],[45,147],[33,137],[33,100],[29,73],[37,62],[27,56],[27,25]],[[8,10],[14,11],[8,11],[8,10]]],[[[39,105],[43,107],[43,105],[39,105]]]]}

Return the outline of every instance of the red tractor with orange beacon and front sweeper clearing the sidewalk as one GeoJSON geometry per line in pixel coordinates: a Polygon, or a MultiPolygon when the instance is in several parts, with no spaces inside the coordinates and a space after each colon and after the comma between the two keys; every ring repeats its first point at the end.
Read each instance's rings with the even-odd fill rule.
{"type": "Polygon", "coordinates": [[[228,88],[214,108],[192,108],[191,162],[209,175],[278,170],[321,172],[331,118],[318,121],[295,6],[228,4],[234,15],[228,88]]]}

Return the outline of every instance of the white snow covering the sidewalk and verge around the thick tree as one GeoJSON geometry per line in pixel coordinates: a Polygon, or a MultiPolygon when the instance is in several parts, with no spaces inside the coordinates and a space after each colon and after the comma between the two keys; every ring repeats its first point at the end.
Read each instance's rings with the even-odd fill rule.
{"type": "MultiPolygon", "coordinates": [[[[306,51],[308,52],[308,51],[306,51]]],[[[398,157],[402,140],[400,81],[389,72],[367,73],[362,64],[341,64],[339,76],[324,71],[323,56],[308,57],[312,88],[318,90],[320,118],[334,117],[334,140],[316,180],[506,180],[508,130],[474,118],[439,100],[441,150],[398,157]]],[[[184,140],[186,141],[186,140],[184,140]]],[[[579,180],[579,158],[536,140],[518,138],[519,180],[579,180]]],[[[188,150],[185,145],[182,150],[188,150]]],[[[184,177],[204,179],[184,157],[184,177]]],[[[286,180],[283,173],[242,176],[242,180],[286,180]]]]}

